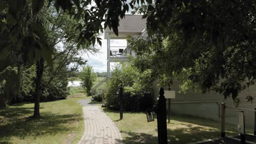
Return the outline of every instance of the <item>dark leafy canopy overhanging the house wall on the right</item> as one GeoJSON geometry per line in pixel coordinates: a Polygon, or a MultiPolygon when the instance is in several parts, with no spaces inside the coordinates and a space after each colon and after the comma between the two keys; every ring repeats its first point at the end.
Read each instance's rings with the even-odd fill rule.
{"type": "Polygon", "coordinates": [[[255,1],[147,2],[136,13],[147,19],[149,38],[129,40],[146,62],[138,63],[142,69],[150,67],[168,76],[183,74],[202,92],[214,90],[234,100],[254,85],[255,1]]]}

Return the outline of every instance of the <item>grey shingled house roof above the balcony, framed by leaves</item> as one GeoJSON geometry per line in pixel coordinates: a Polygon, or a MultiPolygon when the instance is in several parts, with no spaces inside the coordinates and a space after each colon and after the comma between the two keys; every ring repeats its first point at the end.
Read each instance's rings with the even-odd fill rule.
{"type": "MultiPolygon", "coordinates": [[[[139,32],[146,28],[146,19],[142,19],[142,15],[125,15],[124,19],[119,22],[118,32],[139,32]]],[[[113,32],[108,27],[105,32],[113,32]]]]}

